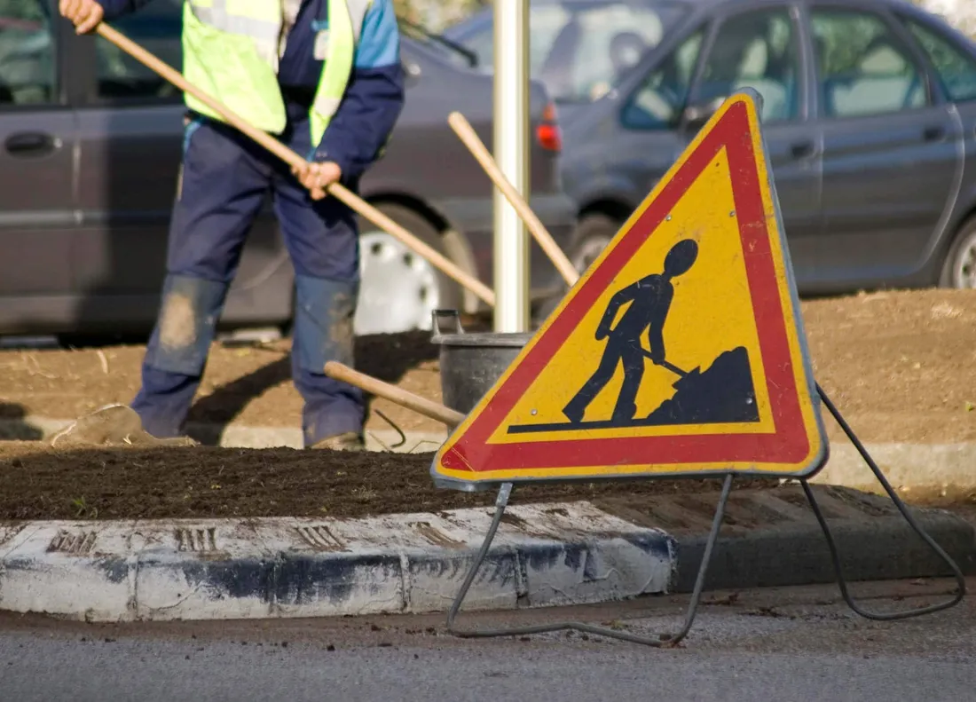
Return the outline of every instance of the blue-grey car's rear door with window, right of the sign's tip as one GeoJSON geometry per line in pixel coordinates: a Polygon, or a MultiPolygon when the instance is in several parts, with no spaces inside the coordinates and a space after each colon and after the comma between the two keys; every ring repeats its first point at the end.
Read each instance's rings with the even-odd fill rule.
{"type": "Polygon", "coordinates": [[[823,141],[817,287],[893,284],[924,264],[961,138],[918,56],[871,5],[810,8],[823,141]]]}

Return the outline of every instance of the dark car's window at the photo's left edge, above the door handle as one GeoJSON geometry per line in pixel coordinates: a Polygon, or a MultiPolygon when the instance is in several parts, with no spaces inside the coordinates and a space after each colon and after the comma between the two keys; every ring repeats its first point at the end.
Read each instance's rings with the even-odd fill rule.
{"type": "Polygon", "coordinates": [[[44,0],[0,0],[0,105],[57,99],[55,41],[44,0]]]}

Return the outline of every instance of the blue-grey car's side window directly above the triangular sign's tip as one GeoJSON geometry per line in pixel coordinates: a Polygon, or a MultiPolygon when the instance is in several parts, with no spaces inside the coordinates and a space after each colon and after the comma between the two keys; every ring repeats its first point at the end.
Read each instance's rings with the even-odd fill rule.
{"type": "Polygon", "coordinates": [[[743,88],[762,96],[764,122],[793,119],[798,111],[799,57],[786,8],[748,12],[722,22],[702,66],[693,103],[712,103],[743,88]]]}

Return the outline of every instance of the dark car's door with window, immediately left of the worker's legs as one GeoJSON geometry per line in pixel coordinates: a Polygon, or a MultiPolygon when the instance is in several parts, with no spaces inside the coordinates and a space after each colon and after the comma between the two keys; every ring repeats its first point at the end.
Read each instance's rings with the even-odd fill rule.
{"type": "MultiPolygon", "coordinates": [[[[156,0],[113,26],[180,67],[177,0],[156,0]],[[167,12],[170,11],[170,12],[167,12]]],[[[126,298],[158,292],[180,169],[179,91],[102,37],[79,38],[88,95],[78,108],[81,225],[72,250],[80,323],[131,319],[126,298]]],[[[155,310],[149,305],[144,313],[155,310]]]]}

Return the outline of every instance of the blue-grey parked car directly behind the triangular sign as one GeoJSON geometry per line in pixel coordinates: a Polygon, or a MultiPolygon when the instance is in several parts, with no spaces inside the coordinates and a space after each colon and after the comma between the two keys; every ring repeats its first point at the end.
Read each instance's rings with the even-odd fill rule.
{"type": "Polygon", "coordinates": [[[945,21],[901,0],[533,0],[533,16],[551,5],[626,6],[625,34],[668,8],[657,44],[561,112],[578,267],[752,87],[801,293],[976,287],[976,45],[945,21]]]}

